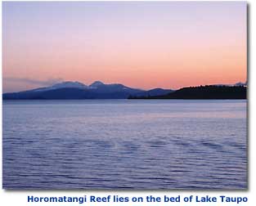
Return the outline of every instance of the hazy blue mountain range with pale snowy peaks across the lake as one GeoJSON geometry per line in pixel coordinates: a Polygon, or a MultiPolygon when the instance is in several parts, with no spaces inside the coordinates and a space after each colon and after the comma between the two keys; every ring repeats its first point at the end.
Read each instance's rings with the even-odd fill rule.
{"type": "Polygon", "coordinates": [[[105,84],[96,81],[87,86],[79,82],[56,83],[25,92],[4,93],[3,100],[56,100],[56,99],[127,99],[128,96],[164,95],[172,90],[161,88],[149,91],[127,87],[120,83],[105,84]]]}

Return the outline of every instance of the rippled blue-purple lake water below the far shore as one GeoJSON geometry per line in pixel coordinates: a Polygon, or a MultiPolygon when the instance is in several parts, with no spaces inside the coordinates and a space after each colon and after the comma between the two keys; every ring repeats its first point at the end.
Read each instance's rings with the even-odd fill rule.
{"type": "Polygon", "coordinates": [[[5,189],[246,189],[246,101],[3,101],[5,189]]]}

